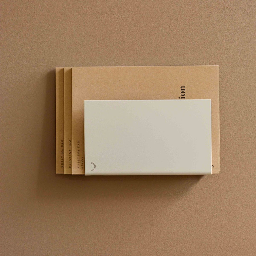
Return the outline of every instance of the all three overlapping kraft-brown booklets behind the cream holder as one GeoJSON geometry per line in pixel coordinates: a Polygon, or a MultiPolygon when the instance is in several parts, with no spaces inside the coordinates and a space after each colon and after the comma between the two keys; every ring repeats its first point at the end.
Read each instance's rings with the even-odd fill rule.
{"type": "Polygon", "coordinates": [[[85,175],[85,101],[194,99],[211,100],[211,173],[220,173],[219,66],[56,67],[56,173],[85,175]]]}

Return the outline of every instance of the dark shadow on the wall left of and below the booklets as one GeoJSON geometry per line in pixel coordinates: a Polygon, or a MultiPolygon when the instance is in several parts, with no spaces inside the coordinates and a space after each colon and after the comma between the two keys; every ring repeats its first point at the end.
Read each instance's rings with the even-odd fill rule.
{"type": "Polygon", "coordinates": [[[96,200],[101,197],[166,197],[178,199],[204,177],[181,176],[84,176],[55,172],[55,70],[46,78],[44,128],[38,169],[37,196],[41,200],[65,198],[96,200]],[[95,197],[95,198],[93,198],[95,197]]]}

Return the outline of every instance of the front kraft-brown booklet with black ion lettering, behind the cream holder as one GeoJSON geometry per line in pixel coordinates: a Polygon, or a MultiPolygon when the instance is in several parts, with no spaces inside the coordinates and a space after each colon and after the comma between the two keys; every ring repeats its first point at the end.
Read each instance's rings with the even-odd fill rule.
{"type": "Polygon", "coordinates": [[[142,66],[72,67],[72,174],[85,168],[84,100],[150,99],[211,99],[211,167],[220,173],[219,66],[142,66]]]}

